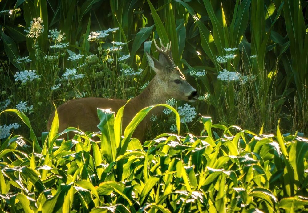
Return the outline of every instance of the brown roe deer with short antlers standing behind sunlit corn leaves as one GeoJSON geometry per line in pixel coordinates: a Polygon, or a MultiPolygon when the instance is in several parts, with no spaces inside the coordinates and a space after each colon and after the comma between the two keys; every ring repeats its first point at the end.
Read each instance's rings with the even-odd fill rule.
{"type": "MultiPolygon", "coordinates": [[[[171,42],[166,47],[163,46],[161,40],[159,48],[154,40],[157,51],[160,52],[159,60],[156,60],[146,52],[146,57],[150,67],[156,72],[156,75],[150,81],[148,86],[126,104],[123,113],[123,129],[129,124],[132,118],[141,109],[155,105],[165,104],[170,98],[194,102],[197,100],[197,91],[185,79],[180,69],[175,66],[171,54],[171,42]]],[[[59,116],[59,131],[65,130],[67,127],[78,127],[83,131],[99,131],[97,125],[99,119],[97,116],[97,108],[109,109],[117,112],[126,100],[106,99],[106,98],[79,98],[69,100],[57,108],[59,116]]],[[[152,113],[160,113],[162,109],[154,108],[152,113]]],[[[152,114],[149,113],[149,114],[152,114]]],[[[55,112],[49,118],[47,128],[51,128],[55,112]]],[[[143,143],[144,132],[149,123],[149,117],[137,126],[132,137],[138,138],[143,143]]]]}

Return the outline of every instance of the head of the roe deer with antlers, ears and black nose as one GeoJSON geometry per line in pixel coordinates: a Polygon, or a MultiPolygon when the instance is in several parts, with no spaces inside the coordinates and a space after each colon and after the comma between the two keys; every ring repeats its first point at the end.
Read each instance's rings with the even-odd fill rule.
{"type": "Polygon", "coordinates": [[[178,67],[175,66],[172,53],[171,42],[166,47],[160,40],[160,46],[156,44],[155,47],[159,54],[159,60],[153,58],[150,54],[146,53],[150,67],[156,72],[158,84],[163,91],[164,95],[168,98],[175,98],[189,102],[195,102],[198,99],[198,93],[185,79],[185,76],[178,67]]]}

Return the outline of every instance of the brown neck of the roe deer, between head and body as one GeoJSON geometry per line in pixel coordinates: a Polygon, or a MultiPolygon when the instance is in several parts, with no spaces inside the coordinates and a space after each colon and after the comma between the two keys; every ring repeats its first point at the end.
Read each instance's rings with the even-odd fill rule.
{"type": "Polygon", "coordinates": [[[137,111],[143,109],[144,107],[156,104],[165,104],[168,97],[165,96],[164,93],[165,92],[160,85],[160,80],[157,76],[154,76],[144,91],[141,92],[140,95],[133,98],[131,102],[135,105],[135,109],[137,111]]]}

